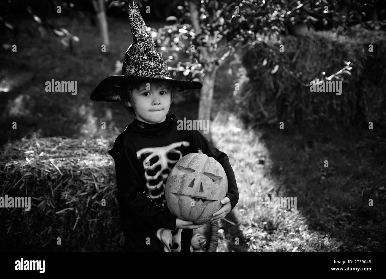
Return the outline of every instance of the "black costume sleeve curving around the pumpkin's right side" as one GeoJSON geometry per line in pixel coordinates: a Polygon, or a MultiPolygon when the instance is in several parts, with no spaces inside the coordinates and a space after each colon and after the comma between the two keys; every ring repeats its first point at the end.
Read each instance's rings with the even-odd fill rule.
{"type": "Polygon", "coordinates": [[[229,158],[227,154],[221,152],[216,147],[211,145],[208,140],[197,130],[190,131],[191,133],[191,152],[198,152],[197,149],[200,148],[204,154],[207,154],[209,157],[213,157],[217,162],[221,164],[224,168],[225,173],[228,178],[228,193],[225,197],[228,197],[232,209],[239,202],[239,189],[237,188],[235,173],[232,169],[232,166],[229,163],[229,158]]]}

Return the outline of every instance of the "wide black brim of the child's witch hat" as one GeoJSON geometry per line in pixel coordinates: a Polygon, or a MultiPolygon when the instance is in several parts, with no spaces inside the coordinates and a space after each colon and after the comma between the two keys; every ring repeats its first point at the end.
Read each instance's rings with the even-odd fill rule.
{"type": "Polygon", "coordinates": [[[188,89],[200,89],[202,83],[198,81],[189,81],[181,79],[168,78],[166,76],[148,77],[148,76],[108,76],[103,79],[93,90],[90,99],[93,101],[118,102],[120,101],[119,91],[122,86],[130,83],[145,83],[157,81],[170,81],[174,83],[177,91],[188,89]]]}

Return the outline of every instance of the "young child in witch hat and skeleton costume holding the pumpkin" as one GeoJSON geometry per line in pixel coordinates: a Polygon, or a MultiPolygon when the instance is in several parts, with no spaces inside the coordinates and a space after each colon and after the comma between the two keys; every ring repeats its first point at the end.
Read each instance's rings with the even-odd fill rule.
{"type": "Polygon", "coordinates": [[[93,91],[95,101],[121,101],[135,115],[114,142],[120,219],[129,252],[189,252],[192,229],[201,225],[181,220],[166,205],[168,174],[183,156],[197,153],[216,159],[228,179],[228,193],[211,221],[221,220],[239,200],[228,157],[196,130],[178,130],[176,115],[168,114],[177,91],[199,89],[201,83],[170,78],[135,1],[129,1],[134,36],[126,51],[122,76],[105,78],[93,91]]]}

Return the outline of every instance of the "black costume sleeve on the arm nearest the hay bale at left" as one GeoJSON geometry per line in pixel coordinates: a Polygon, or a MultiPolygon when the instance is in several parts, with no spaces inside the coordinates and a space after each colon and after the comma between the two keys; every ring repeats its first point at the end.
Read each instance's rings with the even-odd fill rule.
{"type": "Polygon", "coordinates": [[[150,225],[175,230],[176,216],[142,193],[144,187],[138,172],[137,156],[129,147],[122,146],[117,150],[115,171],[119,197],[125,208],[150,225]]]}

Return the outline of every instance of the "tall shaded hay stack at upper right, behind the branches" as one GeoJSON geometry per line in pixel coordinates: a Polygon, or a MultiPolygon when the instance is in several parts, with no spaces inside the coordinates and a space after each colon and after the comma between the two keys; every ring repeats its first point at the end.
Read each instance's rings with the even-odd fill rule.
{"type": "Polygon", "coordinates": [[[239,91],[240,117],[252,125],[287,121],[348,126],[372,121],[386,126],[386,37],[382,31],[352,30],[350,36],[323,31],[245,47],[242,63],[250,81],[239,91]],[[321,80],[322,72],[337,73],[347,66],[345,61],[352,70],[351,76],[338,76],[343,79],[342,95],[310,92],[313,79],[321,80]],[[275,66],[276,73],[271,73],[275,66]]]}

